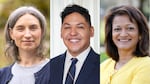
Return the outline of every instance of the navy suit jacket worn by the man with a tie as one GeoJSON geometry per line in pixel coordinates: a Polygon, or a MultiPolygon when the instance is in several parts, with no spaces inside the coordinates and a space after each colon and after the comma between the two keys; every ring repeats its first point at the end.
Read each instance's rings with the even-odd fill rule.
{"type": "MultiPolygon", "coordinates": [[[[75,84],[99,84],[100,56],[91,48],[75,84]]],[[[62,84],[66,52],[50,60],[50,84],[62,84]]]]}

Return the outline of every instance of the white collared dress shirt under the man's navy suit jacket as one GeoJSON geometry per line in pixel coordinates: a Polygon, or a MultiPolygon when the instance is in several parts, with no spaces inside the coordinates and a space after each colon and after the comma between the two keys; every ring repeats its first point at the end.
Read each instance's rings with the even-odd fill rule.
{"type": "MultiPolygon", "coordinates": [[[[76,72],[75,72],[75,81],[79,75],[79,72],[84,64],[84,61],[85,59],[87,58],[89,52],[90,52],[90,46],[84,50],[82,53],[80,53],[78,56],[76,56],[76,58],[78,59],[78,62],[76,63],[76,72]]],[[[64,75],[63,75],[63,84],[65,84],[65,80],[66,80],[66,77],[67,77],[67,73],[68,73],[68,70],[71,66],[71,58],[75,58],[73,56],[71,56],[71,54],[69,53],[69,51],[67,51],[66,53],[66,59],[65,59],[65,65],[64,65],[64,75]]],[[[75,83],[74,81],[74,83],[75,83]]]]}

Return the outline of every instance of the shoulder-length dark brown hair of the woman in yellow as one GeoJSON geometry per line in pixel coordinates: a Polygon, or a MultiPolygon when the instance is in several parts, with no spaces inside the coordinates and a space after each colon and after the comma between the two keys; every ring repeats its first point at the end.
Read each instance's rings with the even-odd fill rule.
{"type": "Polygon", "coordinates": [[[115,16],[128,15],[131,22],[135,20],[138,25],[141,40],[137,43],[136,50],[133,55],[137,57],[145,57],[149,55],[149,28],[145,16],[135,7],[118,6],[112,8],[105,17],[105,45],[106,52],[113,60],[119,60],[118,49],[112,40],[112,22],[115,16]]]}

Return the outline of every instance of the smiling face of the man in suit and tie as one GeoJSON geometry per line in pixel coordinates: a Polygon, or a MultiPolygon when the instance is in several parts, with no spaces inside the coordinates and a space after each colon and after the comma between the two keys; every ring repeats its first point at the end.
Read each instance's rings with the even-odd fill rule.
{"type": "Polygon", "coordinates": [[[71,13],[64,19],[61,37],[73,56],[77,56],[90,45],[90,37],[94,34],[85,18],[79,13],[71,13]]]}

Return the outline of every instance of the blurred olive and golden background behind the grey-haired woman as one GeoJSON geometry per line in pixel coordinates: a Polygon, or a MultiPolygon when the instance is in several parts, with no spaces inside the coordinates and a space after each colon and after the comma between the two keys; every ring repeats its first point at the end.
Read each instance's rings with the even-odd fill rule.
{"type": "Polygon", "coordinates": [[[46,47],[48,48],[47,57],[49,57],[50,49],[50,0],[0,0],[0,68],[11,63],[4,56],[4,26],[9,14],[16,8],[24,5],[31,5],[39,9],[47,19],[47,35],[46,47]]]}

